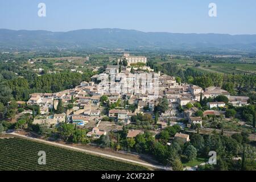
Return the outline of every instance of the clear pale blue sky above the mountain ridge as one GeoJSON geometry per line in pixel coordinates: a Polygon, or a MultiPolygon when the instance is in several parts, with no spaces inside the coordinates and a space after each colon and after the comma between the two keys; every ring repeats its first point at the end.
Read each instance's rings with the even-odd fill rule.
{"type": "Polygon", "coordinates": [[[0,28],[256,34],[255,0],[0,0],[0,28]],[[38,4],[46,3],[46,17],[38,4]],[[216,3],[217,17],[208,15],[216,3]]]}

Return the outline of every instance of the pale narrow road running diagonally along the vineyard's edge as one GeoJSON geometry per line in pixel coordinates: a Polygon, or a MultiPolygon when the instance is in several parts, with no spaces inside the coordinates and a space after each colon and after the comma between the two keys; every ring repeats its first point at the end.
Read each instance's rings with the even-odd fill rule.
{"type": "Polygon", "coordinates": [[[164,169],[164,170],[172,171],[172,168],[165,167],[165,166],[155,166],[155,165],[153,165],[153,164],[148,164],[148,163],[138,162],[138,161],[136,161],[136,160],[130,160],[130,159],[125,159],[125,158],[120,158],[120,157],[118,157],[118,156],[103,154],[103,153],[101,153],[101,152],[90,151],[90,150],[86,150],[86,149],[82,149],[82,148],[67,146],[67,145],[65,145],[65,144],[60,144],[60,143],[55,143],[55,142],[49,142],[49,141],[43,140],[43,139],[38,139],[38,138],[34,138],[34,137],[28,137],[28,136],[25,136],[25,135],[20,135],[20,134],[18,134],[18,133],[8,133],[8,134],[16,135],[16,136],[22,137],[22,138],[27,138],[27,139],[35,140],[35,141],[38,141],[38,142],[43,142],[43,143],[47,143],[47,144],[52,144],[52,145],[54,145],[54,146],[59,146],[59,147],[63,147],[63,148],[69,148],[69,149],[72,149],[72,150],[87,152],[87,153],[94,154],[94,155],[100,155],[100,156],[104,156],[104,157],[106,157],[106,158],[113,158],[113,159],[123,160],[123,161],[125,161],[125,162],[130,162],[130,163],[139,164],[139,165],[142,165],[142,166],[147,166],[147,167],[152,167],[152,168],[158,168],[158,169],[164,169]]]}

